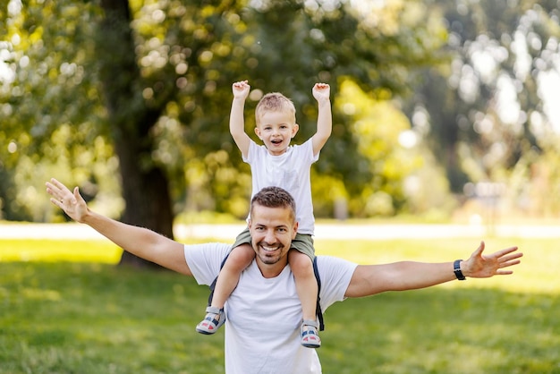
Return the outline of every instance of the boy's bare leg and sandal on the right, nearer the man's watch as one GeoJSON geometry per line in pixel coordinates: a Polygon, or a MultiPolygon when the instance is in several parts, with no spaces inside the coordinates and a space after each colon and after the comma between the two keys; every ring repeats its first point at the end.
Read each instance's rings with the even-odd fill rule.
{"type": "Polygon", "coordinates": [[[295,278],[295,289],[301,302],[304,323],[301,326],[301,344],[310,348],[321,346],[318,337],[317,326],[317,293],[318,285],[315,273],[313,272],[313,262],[310,257],[300,251],[290,250],[288,252],[288,262],[292,268],[295,278]]]}

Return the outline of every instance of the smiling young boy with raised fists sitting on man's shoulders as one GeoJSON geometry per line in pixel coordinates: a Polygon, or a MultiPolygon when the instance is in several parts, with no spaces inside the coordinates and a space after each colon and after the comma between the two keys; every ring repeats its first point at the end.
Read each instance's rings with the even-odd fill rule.
{"type": "MultiPolygon", "coordinates": [[[[299,125],[295,122],[295,106],[289,98],[276,92],[261,98],[255,110],[255,133],[264,146],[259,146],[250,139],[245,133],[243,118],[245,99],[249,92],[248,81],[233,83],[230,132],[242,152],[243,161],[250,164],[252,195],[264,187],[276,186],[290,192],[296,201],[299,228],[288,253],[288,262],[303,311],[301,344],[318,348],[321,340],[318,337],[316,318],[318,285],[312,264],[315,256],[312,238],[315,218],[311,200],[310,166],[318,160],[319,151],[331,134],[330,87],[326,83],[317,83],[313,87],[313,97],[318,101],[317,132],[299,146],[290,146],[290,141],[299,130],[299,125]]],[[[270,247],[273,247],[270,251],[275,250],[274,244],[270,243],[270,247]]],[[[243,269],[255,258],[249,229],[239,234],[232,248],[217,277],[211,305],[206,310],[207,315],[197,325],[197,331],[201,334],[214,334],[224,324],[225,301],[235,289],[243,269]]]]}

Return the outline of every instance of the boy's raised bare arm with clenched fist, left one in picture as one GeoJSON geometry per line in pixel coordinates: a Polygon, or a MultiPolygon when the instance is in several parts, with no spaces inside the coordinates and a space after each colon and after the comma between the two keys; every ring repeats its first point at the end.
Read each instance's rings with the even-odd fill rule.
{"type": "Polygon", "coordinates": [[[250,85],[248,81],[236,81],[232,85],[233,102],[229,117],[229,131],[232,134],[237,148],[242,151],[242,156],[247,157],[249,153],[250,137],[245,132],[245,119],[243,110],[245,99],[249,95],[250,85]]]}

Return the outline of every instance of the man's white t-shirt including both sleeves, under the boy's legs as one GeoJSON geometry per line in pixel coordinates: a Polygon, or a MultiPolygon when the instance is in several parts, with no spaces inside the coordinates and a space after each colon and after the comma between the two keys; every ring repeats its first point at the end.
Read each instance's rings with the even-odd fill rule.
{"type": "MultiPolygon", "coordinates": [[[[210,285],[230,245],[185,245],[185,259],[199,285],[210,285]]],[[[356,264],[318,256],[321,310],[344,300],[356,264]]],[[[225,303],[225,372],[228,374],[321,372],[315,349],[300,344],[301,302],[290,266],[265,278],[257,262],[245,269],[225,303]]]]}

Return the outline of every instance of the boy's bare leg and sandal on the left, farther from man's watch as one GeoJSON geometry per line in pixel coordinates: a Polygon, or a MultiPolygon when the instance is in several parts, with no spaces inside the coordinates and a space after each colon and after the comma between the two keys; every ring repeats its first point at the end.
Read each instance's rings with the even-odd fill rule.
{"type": "Polygon", "coordinates": [[[200,334],[214,334],[225,322],[224,304],[239,282],[242,271],[255,258],[255,251],[250,244],[233,248],[225,260],[224,267],[216,279],[216,286],[205,318],[197,325],[200,334]]]}

